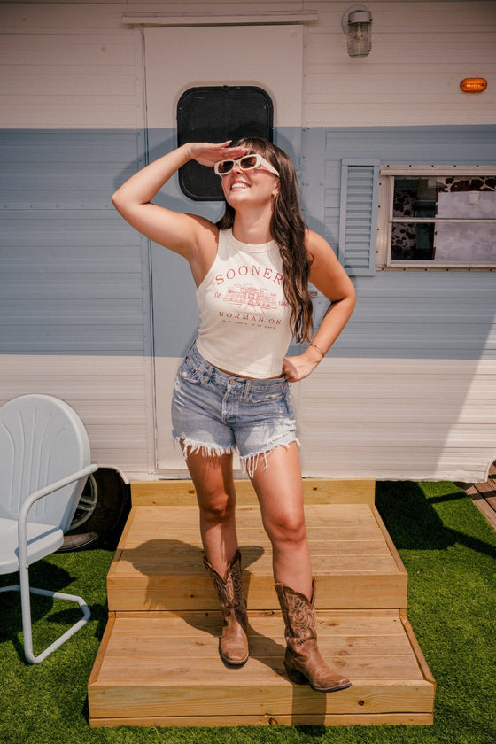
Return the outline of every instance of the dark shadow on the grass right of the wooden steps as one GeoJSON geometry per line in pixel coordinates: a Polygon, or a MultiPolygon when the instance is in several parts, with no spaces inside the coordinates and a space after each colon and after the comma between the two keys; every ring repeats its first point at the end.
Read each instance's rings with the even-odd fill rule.
{"type": "Polygon", "coordinates": [[[446,526],[434,508],[468,498],[461,491],[427,498],[419,484],[409,481],[376,484],[376,507],[399,550],[446,550],[459,544],[494,558],[494,545],[446,526]]]}

